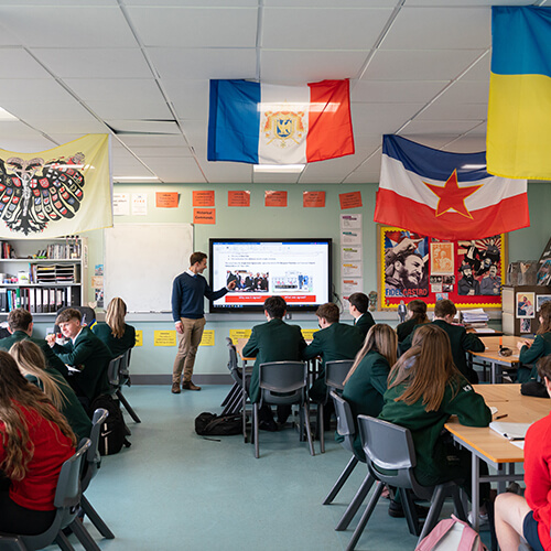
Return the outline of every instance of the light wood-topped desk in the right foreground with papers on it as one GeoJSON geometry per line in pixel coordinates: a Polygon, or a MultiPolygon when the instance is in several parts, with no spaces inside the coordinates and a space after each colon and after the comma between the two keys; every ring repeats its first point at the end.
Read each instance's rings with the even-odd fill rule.
{"type": "MultiPolygon", "coordinates": [[[[497,408],[497,415],[507,414],[507,422],[532,423],[545,417],[551,409],[551,401],[548,398],[522,396],[520,385],[474,385],[473,387],[484,397],[488,406],[497,408]]],[[[489,426],[464,426],[460,424],[457,418],[451,418],[445,428],[452,433],[455,442],[469,450],[472,454],[473,528],[478,530],[480,483],[497,482],[499,490],[503,491],[507,480],[522,479],[522,475],[515,474],[515,464],[523,463],[525,452],[489,426]],[[480,460],[497,468],[498,474],[480,476],[480,460]],[[509,466],[507,474],[505,474],[506,465],[509,466]]]]}

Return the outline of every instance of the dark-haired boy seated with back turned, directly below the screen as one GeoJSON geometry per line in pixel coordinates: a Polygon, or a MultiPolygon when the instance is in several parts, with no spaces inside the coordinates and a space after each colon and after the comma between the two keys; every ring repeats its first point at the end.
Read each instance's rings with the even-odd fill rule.
{"type": "MultiPolygon", "coordinates": [[[[270,296],[264,301],[264,315],[268,323],[255,325],[250,338],[242,349],[245,357],[256,357],[250,378],[249,397],[252,403],[260,401],[259,375],[260,364],[268,361],[300,361],[306,342],[298,325],[289,325],[283,321],[287,302],[281,296],[270,296]]],[[[278,406],[278,422],[284,424],[291,413],[290,406],[278,406]]],[[[277,431],[278,425],[269,404],[263,403],[259,410],[259,429],[277,431]]]]}

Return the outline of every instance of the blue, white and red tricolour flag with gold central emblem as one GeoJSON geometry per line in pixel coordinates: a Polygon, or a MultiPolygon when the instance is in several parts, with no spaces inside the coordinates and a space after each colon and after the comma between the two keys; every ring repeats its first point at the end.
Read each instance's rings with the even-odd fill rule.
{"type": "Polygon", "coordinates": [[[348,80],[210,80],[209,161],[303,164],[353,153],[348,80]]]}

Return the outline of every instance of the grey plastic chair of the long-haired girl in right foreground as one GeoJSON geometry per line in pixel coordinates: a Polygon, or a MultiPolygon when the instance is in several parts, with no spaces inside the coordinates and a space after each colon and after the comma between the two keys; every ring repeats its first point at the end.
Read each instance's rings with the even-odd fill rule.
{"type": "Polygon", "coordinates": [[[396,486],[400,489],[403,510],[410,532],[412,533],[419,534],[419,518],[412,494],[421,499],[431,501],[431,508],[419,534],[418,542],[436,526],[446,497],[453,498],[455,515],[461,520],[467,520],[460,497],[460,487],[455,482],[447,482],[430,487],[421,486],[417,482],[413,474],[413,468],[417,465],[415,449],[409,429],[368,415],[358,415],[358,429],[368,467],[378,482],[375,493],[354,531],[347,551],[355,549],[380,498],[383,484],[396,486]]]}

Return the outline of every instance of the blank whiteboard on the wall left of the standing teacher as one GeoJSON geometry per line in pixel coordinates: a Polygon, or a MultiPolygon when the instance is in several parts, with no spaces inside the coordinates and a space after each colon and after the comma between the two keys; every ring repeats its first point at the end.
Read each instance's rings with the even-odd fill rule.
{"type": "Polygon", "coordinates": [[[104,230],[105,304],[129,312],[170,312],[172,281],[190,267],[192,224],[119,224],[104,230]]]}

